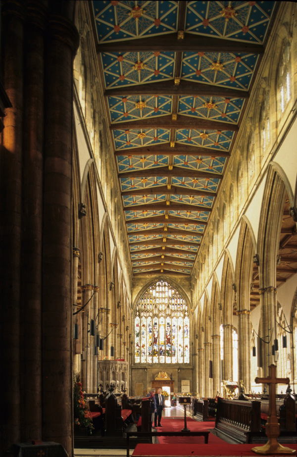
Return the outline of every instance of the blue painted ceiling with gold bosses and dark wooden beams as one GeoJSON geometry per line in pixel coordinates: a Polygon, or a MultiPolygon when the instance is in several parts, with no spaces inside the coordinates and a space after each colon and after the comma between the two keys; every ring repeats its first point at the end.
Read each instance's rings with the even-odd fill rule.
{"type": "Polygon", "coordinates": [[[276,2],[92,5],[133,273],[190,275],[276,2]]]}

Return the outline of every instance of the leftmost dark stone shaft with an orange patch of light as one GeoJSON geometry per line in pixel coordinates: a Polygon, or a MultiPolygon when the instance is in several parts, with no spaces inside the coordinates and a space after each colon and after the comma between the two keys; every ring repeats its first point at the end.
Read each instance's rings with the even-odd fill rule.
{"type": "Polygon", "coordinates": [[[20,272],[24,2],[2,2],[2,81],[12,104],[3,118],[0,166],[1,449],[20,440],[20,272]],[[9,375],[8,375],[9,373],[9,375]]]}

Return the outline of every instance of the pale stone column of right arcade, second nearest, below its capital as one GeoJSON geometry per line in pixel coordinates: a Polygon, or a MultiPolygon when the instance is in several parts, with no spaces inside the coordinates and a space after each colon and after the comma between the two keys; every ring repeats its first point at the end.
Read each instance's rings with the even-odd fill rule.
{"type": "MultiPolygon", "coordinates": [[[[250,392],[250,311],[236,312],[238,318],[238,381],[242,380],[250,392]]],[[[240,392],[239,392],[240,393],[240,392]]]]}

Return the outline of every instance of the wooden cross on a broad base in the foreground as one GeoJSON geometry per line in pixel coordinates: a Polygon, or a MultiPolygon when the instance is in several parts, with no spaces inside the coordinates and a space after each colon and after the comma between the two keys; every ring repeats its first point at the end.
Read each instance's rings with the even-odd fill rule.
{"type": "Polygon", "coordinates": [[[252,451],[257,454],[292,454],[296,451],[291,448],[285,448],[278,443],[277,438],[280,434],[280,424],[276,415],[276,384],[289,384],[289,378],[276,378],[276,365],[269,365],[269,376],[267,378],[255,378],[257,384],[268,384],[269,386],[269,408],[265,433],[268,437],[268,442],[264,446],[252,448],[252,451]]]}

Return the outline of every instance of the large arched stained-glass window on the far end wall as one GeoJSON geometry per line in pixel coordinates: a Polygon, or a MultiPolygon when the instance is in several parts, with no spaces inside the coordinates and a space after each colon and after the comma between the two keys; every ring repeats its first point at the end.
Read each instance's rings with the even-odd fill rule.
{"type": "Polygon", "coordinates": [[[189,309],[164,280],[149,286],[136,306],[135,362],[190,362],[189,309]]]}

